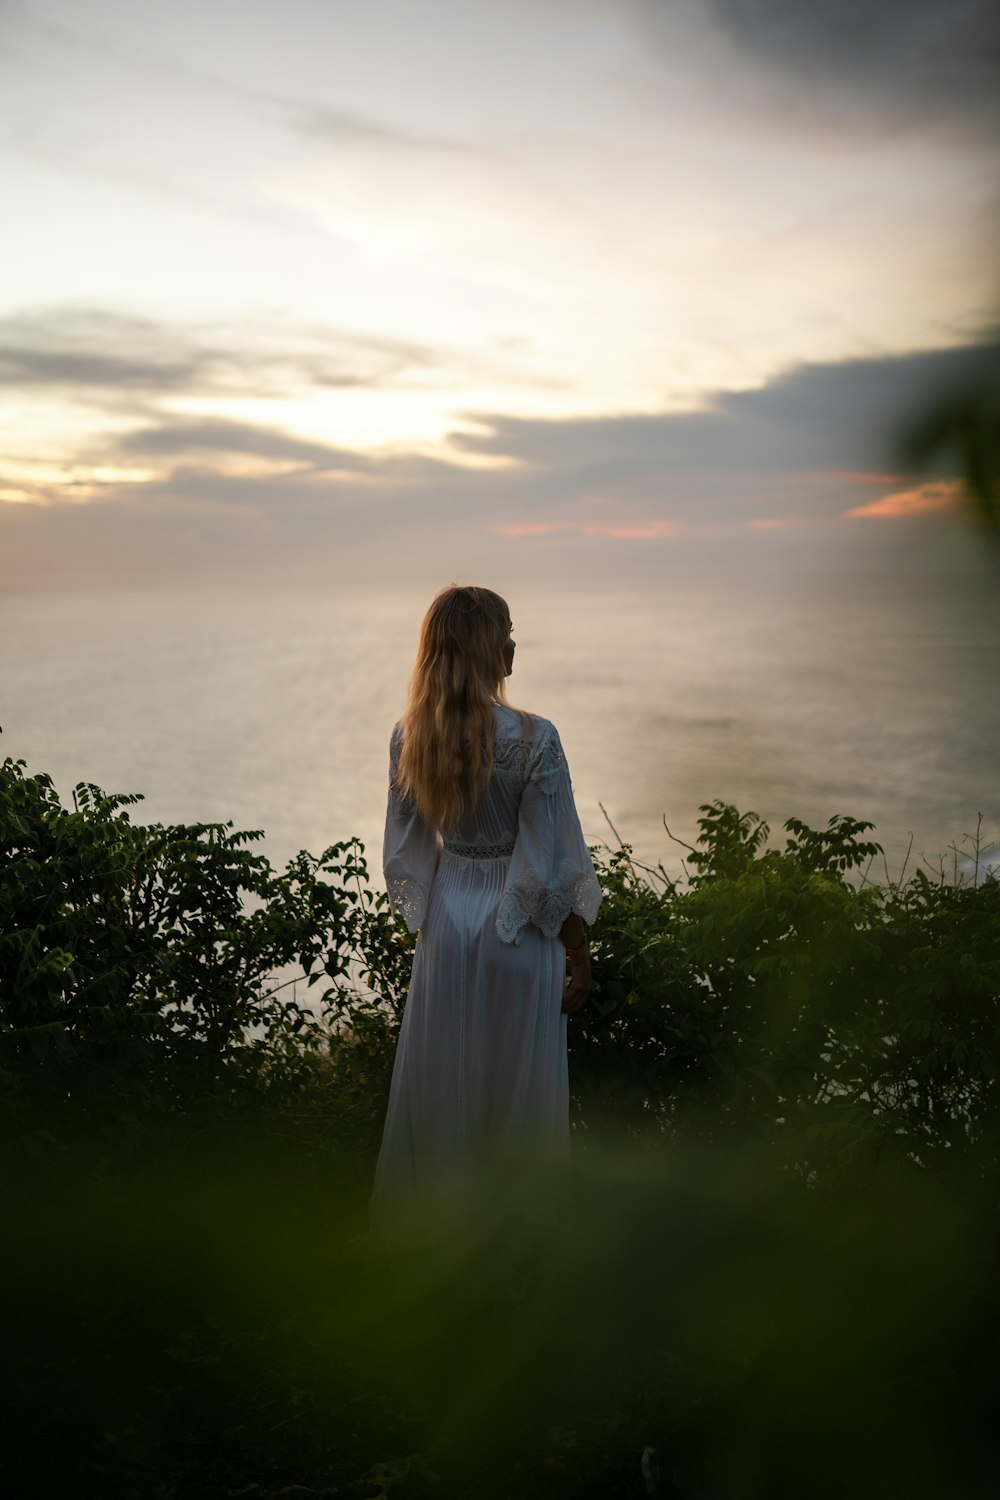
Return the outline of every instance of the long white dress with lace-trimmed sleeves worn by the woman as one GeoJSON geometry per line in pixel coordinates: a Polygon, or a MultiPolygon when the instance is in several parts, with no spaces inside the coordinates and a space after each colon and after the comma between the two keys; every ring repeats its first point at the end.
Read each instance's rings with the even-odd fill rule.
{"type": "Polygon", "coordinates": [[[396,1050],[373,1220],[484,1154],[568,1144],[559,928],[592,922],[601,888],[559,735],[496,708],[493,772],[441,838],[396,786],[390,744],[382,866],[393,910],[420,932],[396,1050]]]}

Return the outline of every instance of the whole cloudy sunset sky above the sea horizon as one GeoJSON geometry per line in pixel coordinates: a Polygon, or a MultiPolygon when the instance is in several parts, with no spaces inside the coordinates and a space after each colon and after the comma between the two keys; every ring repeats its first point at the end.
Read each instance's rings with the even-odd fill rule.
{"type": "Polygon", "coordinates": [[[0,588],[940,556],[999,60],[981,0],[0,0],[0,588]]]}

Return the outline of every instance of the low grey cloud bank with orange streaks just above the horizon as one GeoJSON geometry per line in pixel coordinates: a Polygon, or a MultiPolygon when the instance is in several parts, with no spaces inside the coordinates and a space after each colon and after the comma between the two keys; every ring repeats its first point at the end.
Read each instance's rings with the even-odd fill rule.
{"type": "Polygon", "coordinates": [[[433,584],[483,566],[540,576],[741,567],[748,548],[757,567],[789,548],[832,556],[861,532],[870,549],[873,531],[916,536],[955,507],[954,483],[909,486],[892,468],[900,423],[936,392],[997,372],[1000,348],[984,344],[801,366],[699,411],[480,412],[436,458],[154,410],[39,482],[43,506],[25,504],[31,484],[0,462],[0,579],[127,580],[136,558],[154,578],[295,579],[336,560],[355,582],[433,584]],[[469,468],[469,458],[490,462],[469,468]],[[924,520],[873,528],[862,518],[924,520]]]}

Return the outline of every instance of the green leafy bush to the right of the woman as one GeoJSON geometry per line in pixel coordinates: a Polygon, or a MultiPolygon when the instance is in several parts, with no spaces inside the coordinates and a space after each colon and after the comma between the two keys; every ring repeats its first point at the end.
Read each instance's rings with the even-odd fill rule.
{"type": "Polygon", "coordinates": [[[601,868],[594,1004],[571,1030],[583,1124],[754,1137],[804,1173],[993,1150],[1000,882],[856,872],[871,825],[702,808],[681,888],[628,849],[601,868]]]}

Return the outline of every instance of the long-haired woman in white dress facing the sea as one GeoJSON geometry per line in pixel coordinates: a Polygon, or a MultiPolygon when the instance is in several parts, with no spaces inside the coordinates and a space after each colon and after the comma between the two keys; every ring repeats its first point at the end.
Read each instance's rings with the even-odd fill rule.
{"type": "Polygon", "coordinates": [[[391,736],[382,862],[420,938],[376,1214],[486,1154],[568,1142],[567,1014],[601,890],[555,728],[505,704],[511,628],[499,594],[442,590],[391,736]]]}

